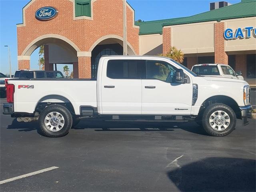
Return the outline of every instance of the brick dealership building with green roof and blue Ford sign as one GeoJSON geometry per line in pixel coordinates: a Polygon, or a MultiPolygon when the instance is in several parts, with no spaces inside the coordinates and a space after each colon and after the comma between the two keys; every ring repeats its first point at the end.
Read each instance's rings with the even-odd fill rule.
{"type": "MultiPolygon", "coordinates": [[[[126,3],[128,54],[156,55],[176,46],[188,68],[229,64],[255,78],[255,10],[256,0],[242,0],[194,16],[135,23],[126,3]]],[[[123,0],[31,0],[17,25],[18,66],[30,68],[30,55],[44,45],[46,70],[73,64],[74,78],[96,78],[100,56],[123,54],[123,23],[123,0]],[[42,8],[56,14],[38,18],[42,8]]]]}

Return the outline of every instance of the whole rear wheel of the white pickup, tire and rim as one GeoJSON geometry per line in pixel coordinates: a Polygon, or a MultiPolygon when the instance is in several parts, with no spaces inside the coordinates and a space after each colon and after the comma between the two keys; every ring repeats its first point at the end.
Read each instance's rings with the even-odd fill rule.
{"type": "Polygon", "coordinates": [[[61,105],[46,107],[38,118],[40,131],[48,137],[62,137],[72,126],[72,115],[61,105]]]}

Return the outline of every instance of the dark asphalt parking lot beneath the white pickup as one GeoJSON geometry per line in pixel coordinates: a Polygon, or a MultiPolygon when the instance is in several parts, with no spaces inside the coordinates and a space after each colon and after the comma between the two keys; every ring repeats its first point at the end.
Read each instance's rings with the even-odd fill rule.
{"type": "Polygon", "coordinates": [[[62,138],[2,115],[1,191],[255,191],[256,121],[225,137],[190,123],[83,121],[62,138]],[[52,168],[53,167],[53,168],[52,168]]]}

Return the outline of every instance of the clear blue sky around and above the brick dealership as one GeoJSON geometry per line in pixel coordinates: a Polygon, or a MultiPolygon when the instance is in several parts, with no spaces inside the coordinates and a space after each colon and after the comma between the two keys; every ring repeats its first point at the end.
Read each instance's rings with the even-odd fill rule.
{"type": "MultiPolygon", "coordinates": [[[[30,0],[0,0],[0,72],[9,73],[8,48],[10,46],[12,74],[18,68],[16,24],[22,23],[22,8],[30,0]]],[[[43,1],[43,0],[42,0],[43,1]]],[[[106,0],[107,1],[107,0],[106,0]]],[[[210,2],[217,0],[127,0],[135,10],[135,20],[160,20],[191,16],[210,10],[210,2]]],[[[240,0],[226,0],[231,4],[240,0]]],[[[38,50],[30,59],[30,68],[39,69],[38,50]]],[[[71,66],[70,66],[71,68],[71,66]]],[[[60,70],[58,68],[58,70],[60,70]]],[[[72,68],[70,69],[72,71],[72,68]]]]}

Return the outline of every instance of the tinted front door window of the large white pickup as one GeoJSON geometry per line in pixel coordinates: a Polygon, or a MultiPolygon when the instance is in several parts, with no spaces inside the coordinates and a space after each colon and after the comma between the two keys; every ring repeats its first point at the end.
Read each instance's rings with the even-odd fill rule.
{"type": "Polygon", "coordinates": [[[175,82],[176,68],[162,61],[146,61],[146,79],[157,79],[168,83],[175,82]]]}

